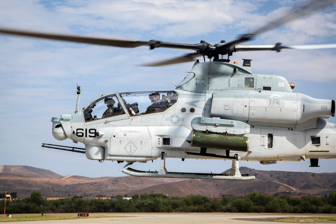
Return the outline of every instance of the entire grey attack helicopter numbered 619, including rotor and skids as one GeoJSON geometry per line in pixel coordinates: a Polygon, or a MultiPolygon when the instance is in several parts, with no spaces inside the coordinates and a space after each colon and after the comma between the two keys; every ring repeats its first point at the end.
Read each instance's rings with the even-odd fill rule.
{"type": "Polygon", "coordinates": [[[77,87],[74,114],[52,117],[52,135],[81,142],[85,148],[42,144],[43,147],[85,153],[91,160],[147,162],[161,159],[159,171],[122,172],[138,177],[253,180],[242,175],[239,161],[277,161],[336,158],[336,126],[325,118],[335,115],[333,100],[314,99],[293,92],[294,83],[277,75],[253,74],[251,60],[243,66],[230,63],[239,51],[335,48],[314,46],[240,45],[256,35],[327,7],[333,1],[310,1],[271,23],[229,42],[197,44],[135,41],[0,29],[1,33],[91,43],[115,47],[149,46],[195,52],[161,62],[162,66],[192,62],[194,65],[174,90],[126,91],[103,94],[79,109],[77,87]],[[227,55],[227,59],[220,58],[227,55]],[[195,59],[202,57],[204,62],[195,59]],[[212,59],[206,61],[205,57],[212,59]],[[166,158],[232,160],[229,174],[167,172],[166,158]]]}

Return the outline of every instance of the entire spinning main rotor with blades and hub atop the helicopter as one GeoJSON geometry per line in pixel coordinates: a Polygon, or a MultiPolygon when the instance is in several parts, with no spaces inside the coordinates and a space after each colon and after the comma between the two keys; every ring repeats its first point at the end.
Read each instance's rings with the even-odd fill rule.
{"type": "Polygon", "coordinates": [[[242,42],[249,41],[254,38],[256,35],[266,32],[268,30],[274,29],[281,25],[284,25],[290,21],[293,21],[299,17],[305,16],[314,11],[321,10],[328,6],[336,5],[335,0],[310,0],[306,2],[301,7],[297,7],[289,11],[288,13],[278,17],[277,19],[267,23],[264,26],[254,30],[250,34],[243,34],[237,39],[229,42],[221,42],[215,45],[211,45],[205,41],[201,41],[198,44],[187,44],[187,43],[173,43],[173,42],[161,42],[157,40],[150,41],[139,41],[139,40],[128,40],[128,39],[114,39],[114,38],[99,38],[99,37],[89,37],[89,36],[79,36],[79,35],[66,35],[66,34],[53,34],[53,33],[42,33],[42,32],[32,32],[32,31],[22,31],[22,30],[12,30],[0,28],[0,33],[11,34],[11,35],[20,35],[28,37],[37,37],[44,39],[53,39],[61,41],[71,41],[79,43],[88,43],[88,44],[97,44],[97,45],[106,45],[114,47],[139,47],[139,46],[149,46],[150,49],[155,49],[157,47],[165,48],[178,48],[178,49],[188,49],[195,50],[197,52],[185,54],[183,56],[160,61],[154,63],[148,63],[144,66],[161,66],[161,65],[170,65],[176,63],[190,62],[194,58],[201,55],[206,55],[209,58],[217,58],[218,55],[232,55],[233,52],[237,51],[259,51],[259,50],[275,50],[280,51],[284,48],[293,48],[293,49],[323,49],[323,48],[335,48],[333,44],[324,44],[324,45],[300,45],[300,46],[291,46],[286,47],[282,46],[281,43],[274,45],[239,45],[242,42]]]}

